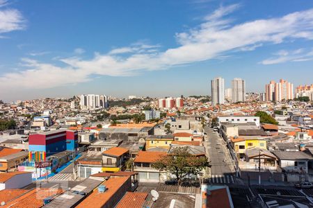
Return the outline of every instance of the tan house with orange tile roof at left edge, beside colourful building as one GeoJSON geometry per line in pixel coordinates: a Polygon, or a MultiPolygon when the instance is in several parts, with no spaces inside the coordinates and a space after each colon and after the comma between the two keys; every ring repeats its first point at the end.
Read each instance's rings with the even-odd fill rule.
{"type": "Polygon", "coordinates": [[[3,148],[0,151],[0,171],[8,171],[17,168],[22,162],[29,158],[29,152],[21,149],[3,148]]]}

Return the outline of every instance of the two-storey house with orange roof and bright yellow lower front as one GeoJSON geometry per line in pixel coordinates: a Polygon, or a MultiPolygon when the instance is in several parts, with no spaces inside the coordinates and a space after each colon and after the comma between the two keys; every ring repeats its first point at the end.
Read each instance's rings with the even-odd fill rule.
{"type": "Polygon", "coordinates": [[[129,159],[129,150],[127,148],[113,147],[102,153],[102,171],[117,172],[124,166],[129,159]]]}

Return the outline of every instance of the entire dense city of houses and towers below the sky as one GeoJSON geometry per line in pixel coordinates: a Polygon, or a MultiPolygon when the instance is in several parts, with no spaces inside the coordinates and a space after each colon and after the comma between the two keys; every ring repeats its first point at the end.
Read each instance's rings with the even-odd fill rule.
{"type": "Polygon", "coordinates": [[[222,79],[212,96],[1,102],[1,206],[312,207],[313,87],[224,96],[222,79]]]}

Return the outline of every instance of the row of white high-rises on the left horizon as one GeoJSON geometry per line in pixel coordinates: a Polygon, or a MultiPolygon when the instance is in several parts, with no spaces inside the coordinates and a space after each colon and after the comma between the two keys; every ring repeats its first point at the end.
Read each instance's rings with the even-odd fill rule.
{"type": "Polygon", "coordinates": [[[80,105],[83,110],[106,108],[109,107],[108,97],[99,94],[82,94],[80,105]]]}

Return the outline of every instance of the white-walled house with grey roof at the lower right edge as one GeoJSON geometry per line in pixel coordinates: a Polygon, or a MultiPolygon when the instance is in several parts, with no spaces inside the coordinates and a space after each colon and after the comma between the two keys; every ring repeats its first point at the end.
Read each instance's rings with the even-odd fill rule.
{"type": "Polygon", "coordinates": [[[313,157],[307,153],[272,151],[278,157],[278,165],[287,172],[309,173],[312,169],[313,157]],[[309,168],[310,167],[310,168],[309,168]]]}

